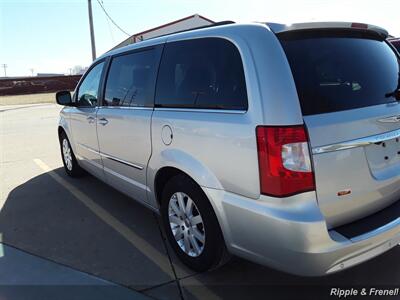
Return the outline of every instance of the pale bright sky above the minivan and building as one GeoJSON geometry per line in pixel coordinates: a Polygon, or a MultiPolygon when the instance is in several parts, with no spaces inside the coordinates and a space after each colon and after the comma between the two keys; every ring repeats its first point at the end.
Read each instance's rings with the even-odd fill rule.
{"type": "MultiPolygon", "coordinates": [[[[400,0],[92,0],[97,56],[127,36],[195,13],[214,21],[364,22],[400,36],[400,0]]],[[[69,73],[91,63],[87,0],[0,0],[0,76],[69,73]]]]}

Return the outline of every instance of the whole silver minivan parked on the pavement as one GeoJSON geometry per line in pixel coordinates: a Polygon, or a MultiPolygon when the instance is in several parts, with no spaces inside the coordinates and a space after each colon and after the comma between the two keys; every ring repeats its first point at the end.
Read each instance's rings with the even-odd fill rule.
{"type": "Polygon", "coordinates": [[[360,23],[216,24],[98,58],[57,93],[68,175],[159,213],[189,267],[300,275],[400,241],[400,68],[360,23]]]}

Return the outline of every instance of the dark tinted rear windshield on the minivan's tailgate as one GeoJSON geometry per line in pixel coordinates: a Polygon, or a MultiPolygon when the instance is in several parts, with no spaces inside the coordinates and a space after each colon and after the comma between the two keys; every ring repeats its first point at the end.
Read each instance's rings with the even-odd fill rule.
{"type": "Polygon", "coordinates": [[[365,36],[278,36],[292,69],[303,115],[396,101],[399,59],[386,42],[365,36]]]}

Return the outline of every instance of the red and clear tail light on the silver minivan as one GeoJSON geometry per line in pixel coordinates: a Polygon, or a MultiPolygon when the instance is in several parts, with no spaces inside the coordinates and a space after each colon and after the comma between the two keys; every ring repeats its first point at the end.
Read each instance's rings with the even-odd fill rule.
{"type": "Polygon", "coordinates": [[[315,190],[304,126],[258,126],[261,193],[286,197],[315,190]]]}

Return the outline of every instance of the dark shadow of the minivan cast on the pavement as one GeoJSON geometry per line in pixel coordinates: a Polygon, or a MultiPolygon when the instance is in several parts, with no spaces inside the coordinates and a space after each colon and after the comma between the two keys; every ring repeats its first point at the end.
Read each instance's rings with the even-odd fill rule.
{"type": "Polygon", "coordinates": [[[239,258],[195,274],[166,244],[156,214],[90,175],[72,179],[62,168],[10,192],[0,211],[0,233],[6,245],[156,299],[324,299],[331,287],[400,283],[400,247],[319,278],[288,275],[239,258]],[[54,174],[69,185],[54,180],[54,174]],[[94,204],[88,207],[68,187],[94,204]]]}

